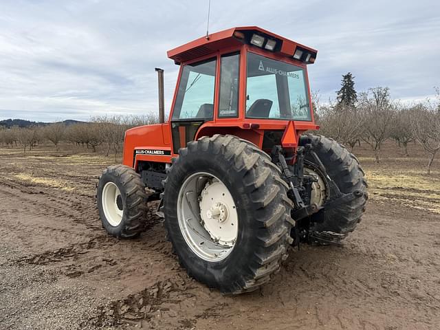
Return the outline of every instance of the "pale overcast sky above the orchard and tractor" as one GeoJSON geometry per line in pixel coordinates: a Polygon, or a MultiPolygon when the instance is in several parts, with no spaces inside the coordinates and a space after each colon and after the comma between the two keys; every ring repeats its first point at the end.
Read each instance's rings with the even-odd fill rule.
{"type": "MultiPolygon", "coordinates": [[[[88,120],[169,111],[178,67],[166,51],[206,33],[206,1],[1,0],[0,120],[88,120]]],[[[440,85],[440,1],[212,0],[210,32],[258,25],[318,50],[321,100],[352,72],[358,91],[417,100],[440,85]]]]}

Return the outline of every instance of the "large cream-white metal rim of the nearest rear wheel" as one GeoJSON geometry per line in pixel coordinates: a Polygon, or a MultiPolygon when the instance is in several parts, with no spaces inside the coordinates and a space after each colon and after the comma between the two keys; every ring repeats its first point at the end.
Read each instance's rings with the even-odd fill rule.
{"type": "Polygon", "coordinates": [[[205,261],[225,259],[239,234],[239,217],[228,187],[209,173],[190,175],[177,197],[177,220],[192,252],[205,261]]]}

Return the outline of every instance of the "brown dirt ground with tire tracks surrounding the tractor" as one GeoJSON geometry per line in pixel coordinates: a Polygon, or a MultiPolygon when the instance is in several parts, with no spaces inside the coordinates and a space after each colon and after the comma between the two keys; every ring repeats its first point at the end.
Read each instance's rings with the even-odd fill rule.
{"type": "Polygon", "coordinates": [[[1,329],[440,329],[440,162],[358,147],[370,201],[344,247],[301,245],[252,294],[179,267],[159,219],[114,239],[95,203],[111,157],[0,148],[1,329]]]}

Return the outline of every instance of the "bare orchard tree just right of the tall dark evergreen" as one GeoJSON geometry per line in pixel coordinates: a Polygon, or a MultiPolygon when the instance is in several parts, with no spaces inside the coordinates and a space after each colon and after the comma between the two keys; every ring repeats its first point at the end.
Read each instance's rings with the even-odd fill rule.
{"type": "Polygon", "coordinates": [[[360,108],[364,115],[364,134],[362,140],[374,151],[380,163],[382,143],[390,137],[395,118],[395,106],[390,98],[388,87],[375,87],[360,96],[360,108]]]}

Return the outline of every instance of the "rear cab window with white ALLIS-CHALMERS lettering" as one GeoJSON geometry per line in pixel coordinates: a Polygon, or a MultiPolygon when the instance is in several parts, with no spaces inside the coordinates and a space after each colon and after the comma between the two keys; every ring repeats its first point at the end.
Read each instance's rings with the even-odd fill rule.
{"type": "Polygon", "coordinates": [[[311,120],[305,70],[248,53],[246,118],[311,120]]]}

